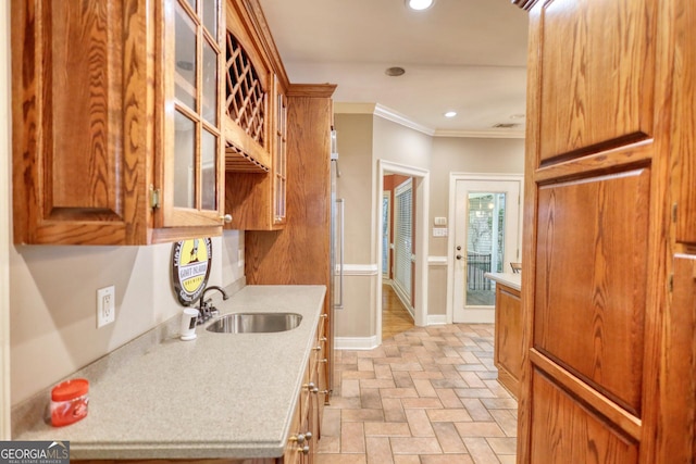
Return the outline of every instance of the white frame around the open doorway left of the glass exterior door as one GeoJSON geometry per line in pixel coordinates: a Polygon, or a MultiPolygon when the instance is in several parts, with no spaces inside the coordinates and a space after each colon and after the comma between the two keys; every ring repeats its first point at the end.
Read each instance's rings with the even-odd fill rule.
{"type": "Polygon", "coordinates": [[[427,324],[427,253],[428,253],[428,214],[430,214],[430,171],[420,167],[407,166],[405,164],[393,163],[386,160],[377,160],[377,195],[375,196],[375,221],[376,224],[375,255],[377,256],[377,276],[380,285],[375,291],[376,309],[376,340],[377,346],[382,344],[382,197],[384,195],[384,175],[400,174],[413,177],[413,193],[415,198],[415,277],[413,289],[415,299],[413,301],[413,319],[417,326],[423,327],[427,324]]]}

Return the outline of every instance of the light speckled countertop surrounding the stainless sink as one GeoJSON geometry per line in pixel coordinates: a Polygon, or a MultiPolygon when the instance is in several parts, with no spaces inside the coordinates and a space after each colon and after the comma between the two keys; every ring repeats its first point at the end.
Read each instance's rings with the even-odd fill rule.
{"type": "Polygon", "coordinates": [[[178,338],[179,316],[69,378],[89,380],[89,413],[66,427],[44,417],[49,391],[13,409],[13,440],[70,440],[71,459],[217,459],[283,455],[324,302],[323,286],[247,286],[221,314],[296,312],[275,334],[178,338]]]}

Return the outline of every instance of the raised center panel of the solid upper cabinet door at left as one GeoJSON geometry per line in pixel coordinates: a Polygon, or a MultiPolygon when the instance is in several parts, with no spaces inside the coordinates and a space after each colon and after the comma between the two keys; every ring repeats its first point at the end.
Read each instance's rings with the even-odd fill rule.
{"type": "Polygon", "coordinates": [[[46,70],[49,91],[45,96],[52,103],[52,114],[46,115],[50,117],[46,135],[52,136],[52,150],[47,150],[45,167],[52,195],[46,212],[103,209],[115,213],[113,148],[123,130],[119,117],[123,57],[121,47],[109,48],[104,25],[115,26],[116,36],[122,34],[120,8],[95,3],[77,9],[67,2],[47,7],[44,18],[51,27],[51,40],[45,45],[51,66],[46,70]],[[67,27],[75,24],[82,27],[67,27]]]}

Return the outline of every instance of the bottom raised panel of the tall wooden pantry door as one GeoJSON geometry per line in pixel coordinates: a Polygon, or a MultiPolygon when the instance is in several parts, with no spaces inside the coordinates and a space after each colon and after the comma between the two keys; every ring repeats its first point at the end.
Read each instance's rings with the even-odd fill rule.
{"type": "Polygon", "coordinates": [[[638,447],[539,371],[533,375],[532,452],[535,463],[631,464],[638,447]]]}

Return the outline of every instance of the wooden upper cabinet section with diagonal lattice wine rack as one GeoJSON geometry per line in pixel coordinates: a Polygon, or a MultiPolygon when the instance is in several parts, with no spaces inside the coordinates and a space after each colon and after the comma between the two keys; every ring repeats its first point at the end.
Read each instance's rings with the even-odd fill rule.
{"type": "Polygon", "coordinates": [[[287,76],[258,1],[227,0],[226,227],[286,223],[287,76]]]}

